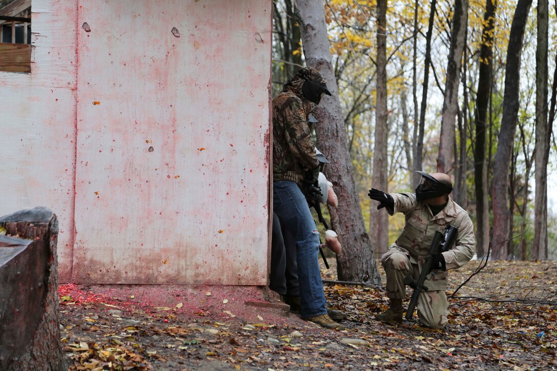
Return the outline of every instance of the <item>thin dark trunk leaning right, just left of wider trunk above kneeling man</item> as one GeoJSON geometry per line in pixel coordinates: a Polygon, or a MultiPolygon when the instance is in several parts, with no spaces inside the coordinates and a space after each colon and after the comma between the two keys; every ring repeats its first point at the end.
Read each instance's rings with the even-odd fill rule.
{"type": "MultiPolygon", "coordinates": [[[[427,88],[429,84],[429,65],[431,65],[431,35],[433,33],[433,20],[435,18],[435,6],[437,0],[431,0],[431,10],[429,11],[429,25],[426,33],[426,60],[424,61],[422,104],[420,105],[418,139],[416,140],[416,154],[414,154],[414,170],[422,170],[423,159],[423,134],[426,124],[427,109],[427,88]]],[[[414,173],[415,182],[418,183],[419,175],[414,173]]]]}

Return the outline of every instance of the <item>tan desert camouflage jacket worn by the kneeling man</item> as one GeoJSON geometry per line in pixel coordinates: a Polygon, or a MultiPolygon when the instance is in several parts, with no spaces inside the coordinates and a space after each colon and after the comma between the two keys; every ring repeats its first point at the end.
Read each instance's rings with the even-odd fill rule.
{"type": "MultiPolygon", "coordinates": [[[[389,193],[394,199],[394,208],[387,207],[389,215],[404,213],[406,223],[397,241],[391,248],[400,248],[407,251],[411,262],[418,263],[422,269],[435,231],[442,232],[447,226],[458,228],[456,244],[451,250],[443,252],[447,270],[465,265],[476,252],[476,239],[474,226],[468,213],[449,196],[447,206],[436,216],[432,215],[427,204],[417,201],[413,193],[389,193]]],[[[447,272],[433,271],[428,276],[426,286],[430,290],[447,289],[447,272]]]]}

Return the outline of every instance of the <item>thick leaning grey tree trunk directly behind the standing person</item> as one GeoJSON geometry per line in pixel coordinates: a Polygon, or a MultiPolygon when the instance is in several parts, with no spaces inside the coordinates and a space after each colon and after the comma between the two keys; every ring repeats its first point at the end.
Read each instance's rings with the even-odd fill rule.
{"type": "Polygon", "coordinates": [[[338,277],[343,281],[360,281],[380,285],[379,271],[375,267],[372,244],[365,230],[360,198],[354,180],[354,168],[346,143],[346,128],[340,108],[327,28],[325,8],[321,0],[297,1],[298,20],[308,66],[315,67],[327,80],[332,96],[325,96],[317,106],[317,147],[331,163],[326,177],[339,198],[338,222],[333,229],[339,235],[343,253],[338,258],[338,277]]]}

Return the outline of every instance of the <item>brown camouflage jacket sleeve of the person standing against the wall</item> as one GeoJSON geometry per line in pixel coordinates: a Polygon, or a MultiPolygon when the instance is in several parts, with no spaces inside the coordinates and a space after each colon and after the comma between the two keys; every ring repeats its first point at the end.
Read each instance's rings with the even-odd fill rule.
{"type": "Polygon", "coordinates": [[[286,140],[291,153],[300,165],[307,169],[315,169],[319,161],[315,154],[315,145],[310,140],[311,130],[307,125],[304,105],[300,100],[290,100],[284,108],[286,140]]]}

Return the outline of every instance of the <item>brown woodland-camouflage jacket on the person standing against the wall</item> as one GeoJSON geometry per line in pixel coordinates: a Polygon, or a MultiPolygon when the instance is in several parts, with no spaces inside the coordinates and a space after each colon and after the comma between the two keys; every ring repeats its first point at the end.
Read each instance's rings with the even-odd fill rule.
{"type": "Polygon", "coordinates": [[[301,96],[299,86],[285,87],[272,101],[273,181],[301,186],[304,172],[319,166],[313,130],[307,118],[315,105],[301,96]]]}

